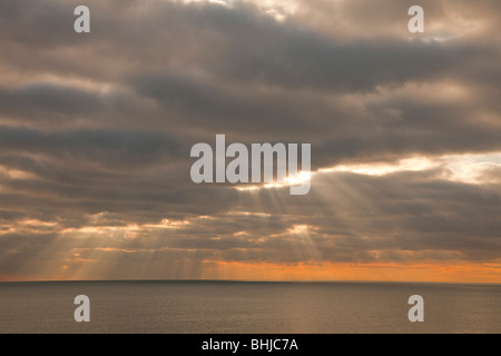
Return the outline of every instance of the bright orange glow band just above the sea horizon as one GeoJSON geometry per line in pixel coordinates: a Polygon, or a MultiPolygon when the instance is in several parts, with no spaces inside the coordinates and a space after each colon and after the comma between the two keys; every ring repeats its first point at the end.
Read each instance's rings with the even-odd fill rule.
{"type": "MultiPolygon", "coordinates": [[[[86,260],[89,261],[89,260],[86,260]]],[[[94,261],[96,263],[96,261],[94,261]]],[[[106,280],[102,275],[68,278],[69,265],[61,265],[52,276],[0,275],[0,281],[28,280],[106,280]]],[[[145,276],[147,277],[147,276],[145,276]]],[[[129,279],[129,278],[122,278],[129,279]]],[[[134,278],[132,278],[134,279],[134,278]]],[[[137,279],[137,278],[136,278],[137,279]]],[[[163,278],[145,278],[158,279],[163,278]]],[[[173,278],[166,278],[173,279],[173,278]]],[[[176,279],[176,278],[174,278],[176,279]]],[[[180,278],[190,279],[190,278],[180,278]]],[[[409,283],[482,283],[501,284],[501,261],[493,263],[239,263],[205,260],[200,277],[206,280],[248,281],[409,281],[409,283]]]]}

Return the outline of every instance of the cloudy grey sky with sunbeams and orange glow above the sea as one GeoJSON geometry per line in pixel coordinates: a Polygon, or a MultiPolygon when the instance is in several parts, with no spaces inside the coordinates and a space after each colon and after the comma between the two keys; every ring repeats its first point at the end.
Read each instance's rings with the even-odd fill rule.
{"type": "Polygon", "coordinates": [[[0,280],[501,283],[499,23],[498,0],[2,0],[0,280]],[[219,134],[311,144],[310,194],[194,184],[219,134]]]}

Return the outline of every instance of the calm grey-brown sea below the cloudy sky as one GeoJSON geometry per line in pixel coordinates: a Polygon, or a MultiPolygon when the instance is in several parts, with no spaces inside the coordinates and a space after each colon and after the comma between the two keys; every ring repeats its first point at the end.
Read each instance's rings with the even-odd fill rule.
{"type": "Polygon", "coordinates": [[[400,283],[0,283],[0,333],[501,333],[501,285],[400,283]],[[73,299],[90,298],[90,323],[73,299]],[[424,298],[424,323],[407,299],[424,298]]]}

